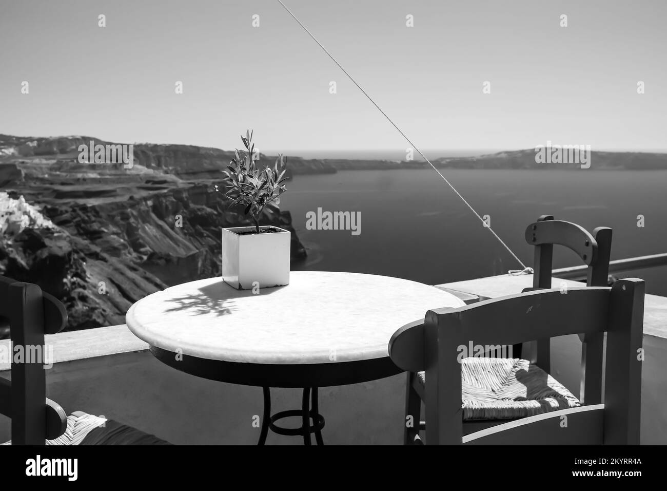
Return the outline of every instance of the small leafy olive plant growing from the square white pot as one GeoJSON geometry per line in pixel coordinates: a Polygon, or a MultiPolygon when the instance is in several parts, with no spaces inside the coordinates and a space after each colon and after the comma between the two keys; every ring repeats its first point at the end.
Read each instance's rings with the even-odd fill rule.
{"type": "Polygon", "coordinates": [[[285,192],[286,164],[282,154],[275,159],[273,167],[262,168],[253,159],[255,144],[252,132],[247,130],[241,135],[245,150],[235,150],[235,158],[229,162],[223,174],[229,180],[229,190],[225,193],[235,205],[243,206],[243,212],[250,215],[255,222],[255,231],[259,234],[259,218],[265,208],[276,208],[280,203],[280,195],[285,192]]]}

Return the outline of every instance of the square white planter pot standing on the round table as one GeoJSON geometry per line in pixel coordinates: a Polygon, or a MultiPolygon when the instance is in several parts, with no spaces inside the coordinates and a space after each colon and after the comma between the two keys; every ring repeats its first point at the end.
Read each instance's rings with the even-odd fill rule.
{"type": "Polygon", "coordinates": [[[254,226],[222,229],[222,279],[237,290],[289,285],[289,230],[259,228],[277,232],[239,234],[255,230],[254,226]]]}

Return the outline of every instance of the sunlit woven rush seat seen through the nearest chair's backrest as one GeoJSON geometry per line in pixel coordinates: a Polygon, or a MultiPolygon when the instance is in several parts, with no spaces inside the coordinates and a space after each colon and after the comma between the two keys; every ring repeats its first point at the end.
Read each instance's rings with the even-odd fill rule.
{"type": "MultiPolygon", "coordinates": [[[[417,375],[424,384],[424,372],[417,375]]],[[[581,405],[546,371],[518,358],[462,359],[461,388],[466,421],[513,420],[581,405]]]]}

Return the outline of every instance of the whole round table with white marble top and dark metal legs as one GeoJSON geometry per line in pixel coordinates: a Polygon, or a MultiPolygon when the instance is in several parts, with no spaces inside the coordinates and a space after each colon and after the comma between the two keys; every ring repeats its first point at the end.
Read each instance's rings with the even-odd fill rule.
{"type": "Polygon", "coordinates": [[[171,367],[263,387],[260,444],[269,428],[303,435],[306,444],[315,433],[321,444],[317,387],[400,373],[388,353],[394,331],[424,319],[430,309],[462,305],[454,295],[414,281],[293,271],[289,285],[255,292],[233,289],[219,278],[167,288],[135,303],[126,322],[171,367]],[[303,407],[271,416],[269,387],[305,387],[303,407]],[[275,426],[287,416],[301,416],[303,426],[275,426]]]}

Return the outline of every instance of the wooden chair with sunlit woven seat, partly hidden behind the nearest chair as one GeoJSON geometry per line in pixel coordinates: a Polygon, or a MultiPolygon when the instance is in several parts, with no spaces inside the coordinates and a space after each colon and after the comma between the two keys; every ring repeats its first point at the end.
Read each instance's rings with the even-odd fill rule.
{"type": "MultiPolygon", "coordinates": [[[[526,228],[526,242],[535,247],[533,287],[524,291],[550,289],[552,283],[552,256],[554,244],[560,244],[574,251],[588,265],[588,287],[606,287],[609,273],[609,259],[612,247],[612,229],[598,227],[593,235],[581,226],[563,220],[554,220],[552,215],[542,215],[526,228]]],[[[414,325],[422,324],[416,321],[414,325]]],[[[475,432],[482,428],[495,426],[503,420],[512,420],[532,416],[536,412],[544,412],[546,407],[534,406],[530,403],[512,402],[508,395],[522,390],[522,385],[542,387],[541,380],[548,379],[550,386],[562,399],[564,405],[580,405],[600,403],[602,387],[602,349],[604,335],[592,333],[582,339],[582,381],[580,397],[577,399],[566,387],[554,380],[550,373],[550,340],[540,335],[536,327],[532,339],[523,345],[514,345],[512,359],[482,357],[466,359],[463,363],[464,380],[471,383],[464,385],[466,399],[471,407],[465,412],[466,432],[475,432]],[[527,348],[527,349],[524,349],[527,348]],[[525,359],[522,354],[526,353],[525,359]],[[521,383],[516,373],[528,369],[528,374],[521,383]],[[497,397],[498,387],[505,386],[505,397],[497,397]],[[475,401],[480,401],[474,409],[475,401]]],[[[422,399],[424,399],[424,371],[409,372],[406,389],[406,421],[404,443],[418,443],[420,430],[426,429],[426,423],[420,421],[422,399]]],[[[529,390],[534,397],[544,398],[544,391],[529,390]]],[[[537,400],[537,399],[534,399],[537,400]]]]}

